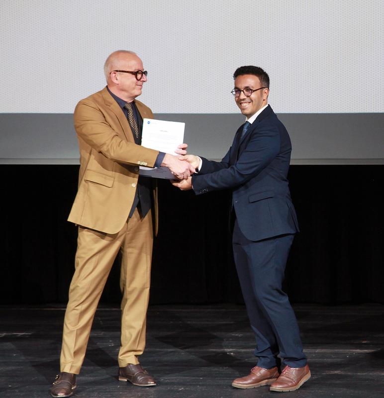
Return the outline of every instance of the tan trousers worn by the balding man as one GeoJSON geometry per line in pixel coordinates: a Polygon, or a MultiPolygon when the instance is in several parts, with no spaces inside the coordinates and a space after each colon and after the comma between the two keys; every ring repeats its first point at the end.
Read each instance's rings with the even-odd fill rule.
{"type": "Polygon", "coordinates": [[[79,227],[75,273],[64,318],[60,371],[80,373],[98,300],[113,261],[121,251],[120,367],[138,364],[145,347],[146,312],[152,260],[152,215],[135,210],[120,232],[106,234],[79,227]]]}

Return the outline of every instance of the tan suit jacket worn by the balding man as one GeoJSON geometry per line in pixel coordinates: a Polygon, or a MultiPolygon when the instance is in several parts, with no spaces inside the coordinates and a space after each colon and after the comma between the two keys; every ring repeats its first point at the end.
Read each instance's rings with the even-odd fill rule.
{"type": "MultiPolygon", "coordinates": [[[[135,100],[141,117],[151,109],[135,100]]],[[[113,234],[128,218],[139,166],[154,167],[158,151],[134,143],[124,112],[107,89],[81,100],[74,113],[80,148],[79,187],[68,221],[113,234]]],[[[157,195],[155,231],[157,231],[157,195]]]]}

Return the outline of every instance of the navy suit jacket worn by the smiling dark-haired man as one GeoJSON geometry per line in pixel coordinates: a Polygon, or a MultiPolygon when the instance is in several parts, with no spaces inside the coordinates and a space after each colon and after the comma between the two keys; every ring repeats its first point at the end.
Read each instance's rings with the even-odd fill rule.
{"type": "Polygon", "coordinates": [[[291,143],[287,129],[267,106],[221,162],[202,158],[202,167],[192,177],[196,195],[231,189],[241,232],[252,241],[298,231],[288,187],[291,143]]]}

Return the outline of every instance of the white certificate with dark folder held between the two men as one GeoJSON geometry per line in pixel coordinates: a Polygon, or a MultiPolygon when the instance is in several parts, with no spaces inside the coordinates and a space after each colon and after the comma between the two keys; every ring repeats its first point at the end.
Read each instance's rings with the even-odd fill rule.
{"type": "MultiPolygon", "coordinates": [[[[177,155],[175,149],[184,141],[184,128],[186,123],[178,121],[143,119],[141,145],[146,148],[156,149],[160,152],[177,155]]],[[[174,180],[175,176],[168,167],[142,167],[140,175],[154,178],[174,180]]]]}

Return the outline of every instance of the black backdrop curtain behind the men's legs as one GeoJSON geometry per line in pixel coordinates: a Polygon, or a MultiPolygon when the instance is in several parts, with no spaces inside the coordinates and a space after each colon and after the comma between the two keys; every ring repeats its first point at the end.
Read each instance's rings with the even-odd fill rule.
{"type": "MultiPolygon", "coordinates": [[[[0,303],[66,302],[78,166],[2,165],[0,303]]],[[[288,260],[293,302],[384,303],[384,166],[291,166],[301,232],[288,260]]],[[[159,181],[151,303],[242,302],[228,192],[194,196],[159,181]]],[[[101,300],[118,302],[118,261],[101,300]]]]}

